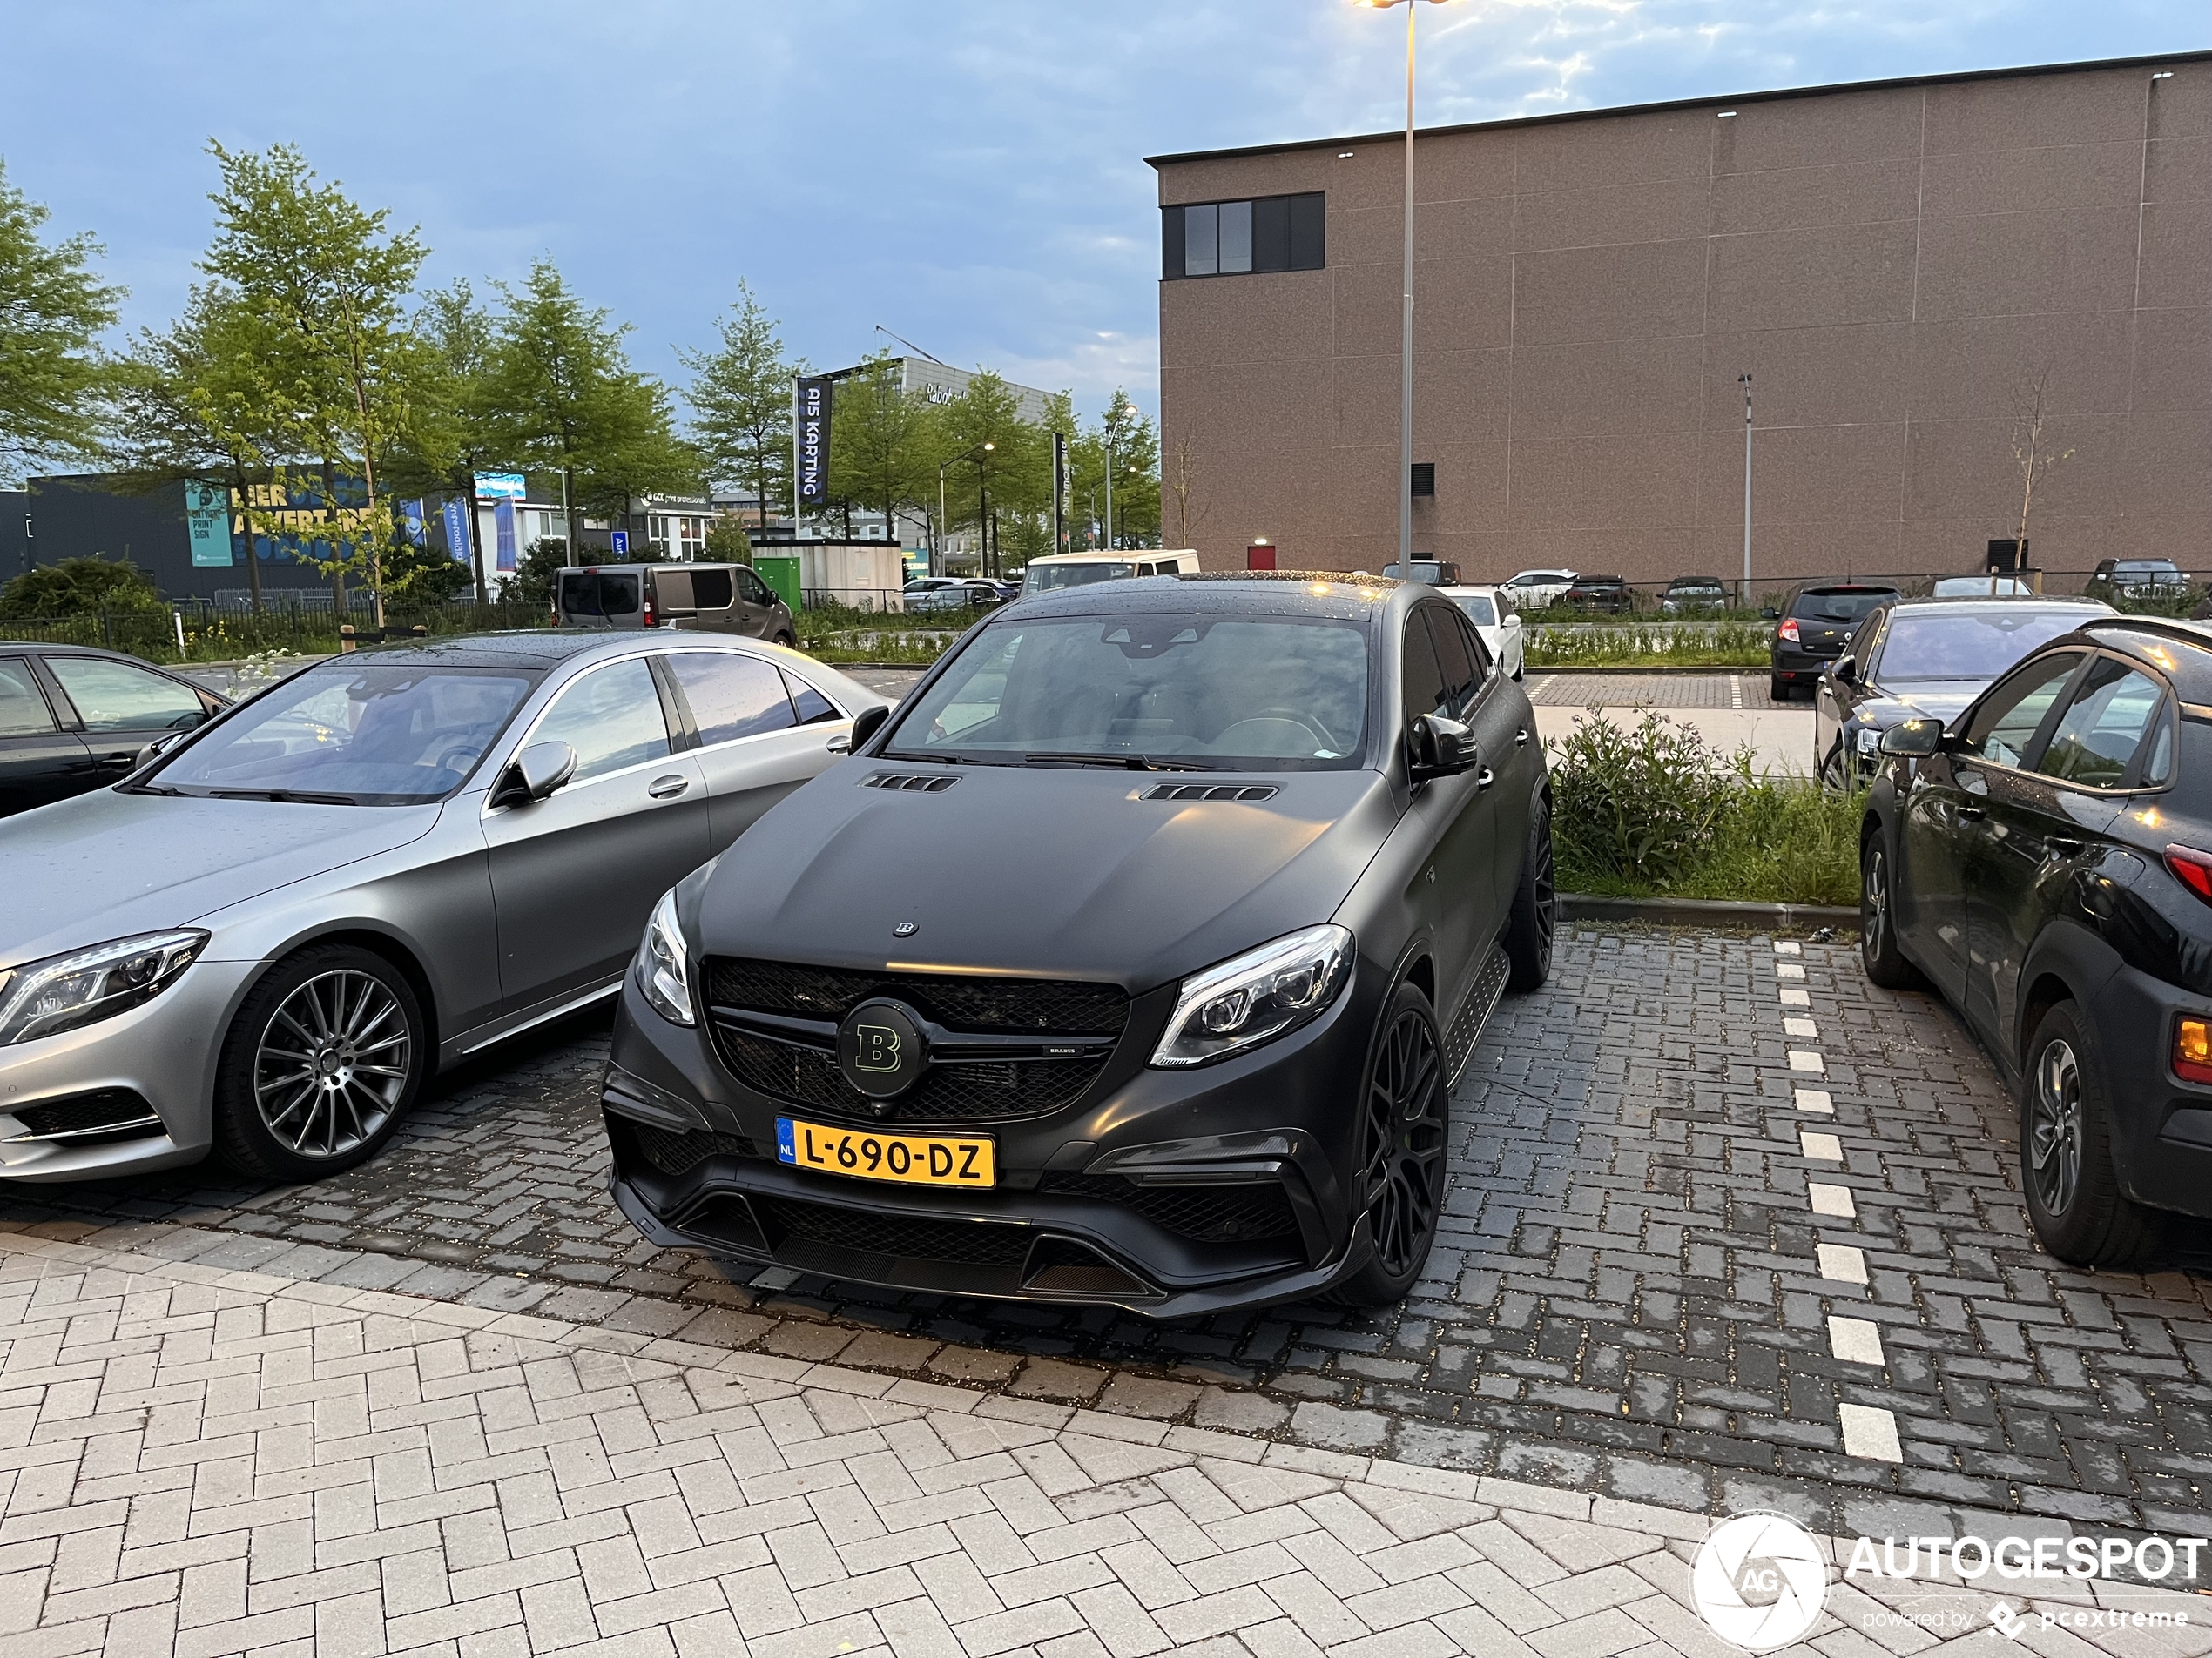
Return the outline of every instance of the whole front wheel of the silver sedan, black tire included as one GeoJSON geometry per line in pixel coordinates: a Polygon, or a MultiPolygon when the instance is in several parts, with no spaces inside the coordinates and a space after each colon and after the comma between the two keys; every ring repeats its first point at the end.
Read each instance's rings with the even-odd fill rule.
{"type": "Polygon", "coordinates": [[[252,988],[215,1072],[215,1145],[243,1174],[319,1180],[376,1156],[429,1066],[414,988],[349,944],[299,951],[252,988]]]}

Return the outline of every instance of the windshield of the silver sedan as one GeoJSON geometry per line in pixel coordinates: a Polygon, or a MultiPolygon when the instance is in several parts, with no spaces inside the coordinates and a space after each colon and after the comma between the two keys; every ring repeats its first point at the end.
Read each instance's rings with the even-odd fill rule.
{"type": "Polygon", "coordinates": [[[201,796],[319,796],[403,807],[458,789],[531,694],[533,674],[349,663],[257,696],[148,787],[201,796]]]}

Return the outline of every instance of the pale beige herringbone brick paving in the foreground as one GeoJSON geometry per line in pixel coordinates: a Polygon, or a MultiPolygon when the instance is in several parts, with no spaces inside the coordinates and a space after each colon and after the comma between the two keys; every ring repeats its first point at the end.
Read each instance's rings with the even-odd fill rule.
{"type": "MultiPolygon", "coordinates": [[[[1144,1415],[0,1238],[9,1654],[1705,1658],[1736,1649],[1690,1596],[1703,1530],[1144,1415]]],[[[2037,1654],[2212,1647],[2194,1596],[1838,1581],[1843,1547],[1825,1539],[1825,1612],[1792,1651],[1989,1651],[2015,1618],[2037,1654]]]]}

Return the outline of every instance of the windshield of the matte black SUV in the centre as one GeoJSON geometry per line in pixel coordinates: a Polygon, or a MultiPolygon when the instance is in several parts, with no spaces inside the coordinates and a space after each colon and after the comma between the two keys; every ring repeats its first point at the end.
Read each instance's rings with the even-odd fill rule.
{"type": "Polygon", "coordinates": [[[1006,619],[898,718],[889,754],[1336,769],[1367,741],[1367,626],[1305,617],[1006,619]]]}

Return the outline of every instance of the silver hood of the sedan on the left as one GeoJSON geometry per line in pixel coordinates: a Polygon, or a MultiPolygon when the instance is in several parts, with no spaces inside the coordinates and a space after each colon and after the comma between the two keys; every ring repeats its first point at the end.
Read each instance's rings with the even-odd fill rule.
{"type": "Polygon", "coordinates": [[[440,805],[319,807],[95,789],[0,818],[0,966],[186,926],[405,847],[440,805]]]}

